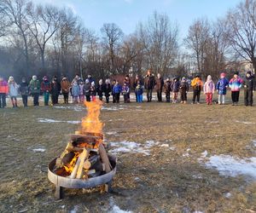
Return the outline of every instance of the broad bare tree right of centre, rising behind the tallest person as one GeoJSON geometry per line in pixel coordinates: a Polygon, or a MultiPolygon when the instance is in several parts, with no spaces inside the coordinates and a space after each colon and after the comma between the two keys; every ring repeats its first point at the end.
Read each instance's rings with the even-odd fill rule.
{"type": "Polygon", "coordinates": [[[154,72],[166,74],[177,55],[177,26],[166,14],[154,12],[146,24],[139,26],[138,34],[147,55],[145,66],[149,64],[154,72]]]}

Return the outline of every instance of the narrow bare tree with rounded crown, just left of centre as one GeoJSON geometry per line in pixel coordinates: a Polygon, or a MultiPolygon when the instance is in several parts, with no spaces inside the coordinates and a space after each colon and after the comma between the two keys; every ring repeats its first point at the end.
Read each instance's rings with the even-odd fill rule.
{"type": "Polygon", "coordinates": [[[119,43],[122,40],[124,33],[121,31],[119,26],[116,24],[104,24],[101,29],[103,44],[108,51],[109,57],[109,69],[112,74],[117,71],[117,66],[115,64],[115,57],[119,51],[119,43]]]}

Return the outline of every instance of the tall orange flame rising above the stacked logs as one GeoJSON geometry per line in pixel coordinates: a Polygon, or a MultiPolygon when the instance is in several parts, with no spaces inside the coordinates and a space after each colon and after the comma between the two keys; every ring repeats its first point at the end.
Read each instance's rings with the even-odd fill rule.
{"type": "Polygon", "coordinates": [[[87,108],[87,115],[82,118],[82,127],[80,133],[102,133],[103,124],[99,118],[102,108],[102,101],[98,99],[90,102],[84,101],[84,105],[87,108]]]}

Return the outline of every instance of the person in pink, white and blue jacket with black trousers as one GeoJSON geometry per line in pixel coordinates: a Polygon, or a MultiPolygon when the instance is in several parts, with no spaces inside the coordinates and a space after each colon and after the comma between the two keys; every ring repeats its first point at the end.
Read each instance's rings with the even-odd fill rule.
{"type": "Polygon", "coordinates": [[[238,72],[235,72],[234,77],[230,79],[229,83],[229,87],[231,89],[232,106],[236,106],[239,101],[242,79],[238,77],[238,74],[238,72]]]}

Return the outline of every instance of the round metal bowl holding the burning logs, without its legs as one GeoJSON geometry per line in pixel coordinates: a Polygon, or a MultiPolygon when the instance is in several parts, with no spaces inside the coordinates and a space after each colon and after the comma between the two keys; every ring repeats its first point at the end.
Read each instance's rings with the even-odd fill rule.
{"type": "Polygon", "coordinates": [[[113,167],[113,170],[104,174],[102,176],[91,177],[88,180],[82,179],[71,179],[64,176],[57,176],[54,172],[54,166],[56,163],[56,158],[49,163],[48,166],[48,179],[52,183],[54,183],[58,187],[67,187],[67,188],[90,188],[90,187],[97,187],[102,184],[106,184],[112,181],[113,176],[116,173],[116,161],[117,158],[112,155],[108,155],[110,164],[113,167]]]}

